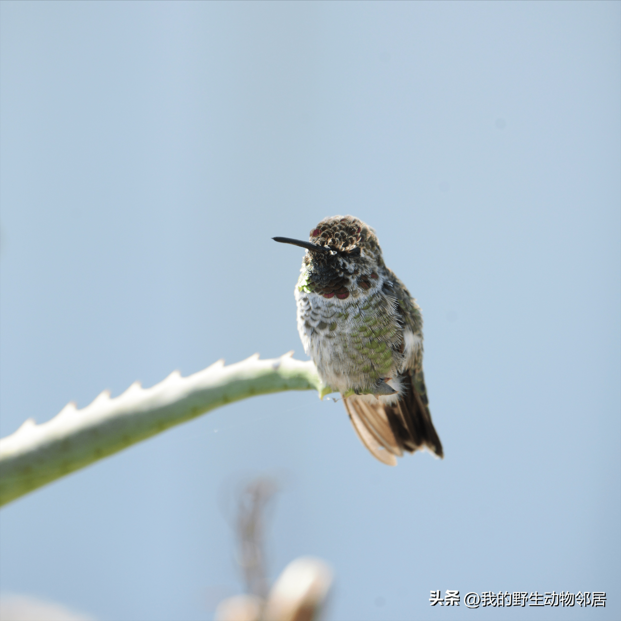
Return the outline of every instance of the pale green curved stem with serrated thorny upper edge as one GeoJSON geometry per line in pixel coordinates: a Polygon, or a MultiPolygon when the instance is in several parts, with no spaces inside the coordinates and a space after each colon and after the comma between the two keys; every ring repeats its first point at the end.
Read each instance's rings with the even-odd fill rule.
{"type": "Polygon", "coordinates": [[[320,397],[329,392],[311,361],[256,354],[229,366],[218,361],[187,378],[175,371],[152,388],[134,383],[114,399],[104,391],[81,410],[70,403],[52,420],[29,419],[0,440],[0,505],[216,407],[311,389],[320,397]]]}

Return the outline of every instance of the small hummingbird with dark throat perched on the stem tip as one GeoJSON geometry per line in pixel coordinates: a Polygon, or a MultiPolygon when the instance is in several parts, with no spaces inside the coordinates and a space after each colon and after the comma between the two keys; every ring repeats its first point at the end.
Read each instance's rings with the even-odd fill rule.
{"type": "Polygon", "coordinates": [[[375,230],[335,215],[307,242],[273,239],[306,248],[297,331],[319,377],[340,392],[363,445],[389,466],[422,448],[442,458],[425,388],[420,307],[384,265],[375,230]]]}

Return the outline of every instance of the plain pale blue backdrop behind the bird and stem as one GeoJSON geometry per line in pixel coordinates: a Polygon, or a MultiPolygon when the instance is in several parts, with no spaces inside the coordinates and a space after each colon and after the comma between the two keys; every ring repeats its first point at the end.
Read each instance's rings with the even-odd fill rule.
{"type": "Polygon", "coordinates": [[[267,472],[271,576],[329,561],[329,620],[491,618],[430,589],[619,618],[620,7],[3,1],[1,434],[306,359],[303,251],[271,237],[353,214],[423,309],[446,457],[387,468],[311,392],[233,404],[2,509],[2,590],[211,619],[241,589],[219,495],[267,472]]]}

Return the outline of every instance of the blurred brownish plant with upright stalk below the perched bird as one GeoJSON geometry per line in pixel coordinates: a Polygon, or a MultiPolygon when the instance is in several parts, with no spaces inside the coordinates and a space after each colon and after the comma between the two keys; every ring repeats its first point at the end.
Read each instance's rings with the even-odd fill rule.
{"type": "Polygon", "coordinates": [[[322,612],[332,569],[318,558],[302,556],[284,568],[269,587],[266,555],[266,509],[278,491],[273,478],[260,477],[238,494],[235,534],[237,562],[247,594],[229,597],[215,611],[216,621],[312,621],[322,612]]]}

